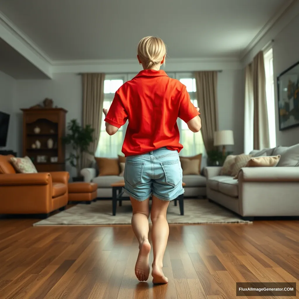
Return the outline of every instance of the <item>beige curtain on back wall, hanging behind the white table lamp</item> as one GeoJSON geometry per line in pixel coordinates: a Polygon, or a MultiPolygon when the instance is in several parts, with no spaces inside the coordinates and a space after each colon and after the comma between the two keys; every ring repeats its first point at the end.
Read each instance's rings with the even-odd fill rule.
{"type": "Polygon", "coordinates": [[[206,151],[214,148],[214,132],[218,131],[217,71],[195,72],[197,101],[201,113],[202,139],[206,151]]]}

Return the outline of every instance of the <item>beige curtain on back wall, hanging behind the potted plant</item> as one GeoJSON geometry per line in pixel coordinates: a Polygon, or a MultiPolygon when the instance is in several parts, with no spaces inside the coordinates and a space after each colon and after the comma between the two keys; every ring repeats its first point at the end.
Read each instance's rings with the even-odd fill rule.
{"type": "MultiPolygon", "coordinates": [[[[95,153],[100,138],[101,120],[103,116],[105,74],[82,74],[83,87],[83,126],[91,125],[94,128],[94,142],[89,151],[95,153]]],[[[89,167],[94,156],[88,153],[83,155],[81,167],[89,167]]]]}

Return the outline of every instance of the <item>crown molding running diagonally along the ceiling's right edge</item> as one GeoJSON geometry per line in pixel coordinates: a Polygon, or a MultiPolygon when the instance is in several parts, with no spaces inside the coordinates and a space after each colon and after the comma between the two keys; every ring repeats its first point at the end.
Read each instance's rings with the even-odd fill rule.
{"type": "Polygon", "coordinates": [[[240,60],[244,59],[246,55],[263,39],[264,36],[269,32],[271,28],[280,20],[280,18],[286,14],[291,6],[295,5],[298,0],[287,0],[283,5],[277,10],[277,12],[272,16],[272,18],[265,24],[265,26],[257,33],[257,35],[251,40],[248,46],[242,51],[240,60]]]}

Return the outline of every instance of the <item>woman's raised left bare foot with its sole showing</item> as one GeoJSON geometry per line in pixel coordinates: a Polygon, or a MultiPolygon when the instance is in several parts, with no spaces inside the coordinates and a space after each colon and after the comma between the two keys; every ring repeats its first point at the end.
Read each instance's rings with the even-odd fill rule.
{"type": "Polygon", "coordinates": [[[135,274],[138,280],[147,281],[149,278],[149,240],[146,239],[139,245],[139,254],[135,265],[135,274]]]}

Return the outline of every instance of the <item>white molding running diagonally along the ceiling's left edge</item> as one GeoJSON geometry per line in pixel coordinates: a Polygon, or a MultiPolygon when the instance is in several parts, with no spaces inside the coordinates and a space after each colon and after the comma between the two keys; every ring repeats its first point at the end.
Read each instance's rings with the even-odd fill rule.
{"type": "Polygon", "coordinates": [[[52,78],[51,59],[1,12],[0,37],[45,75],[52,78]]]}

